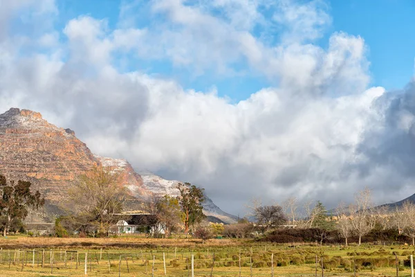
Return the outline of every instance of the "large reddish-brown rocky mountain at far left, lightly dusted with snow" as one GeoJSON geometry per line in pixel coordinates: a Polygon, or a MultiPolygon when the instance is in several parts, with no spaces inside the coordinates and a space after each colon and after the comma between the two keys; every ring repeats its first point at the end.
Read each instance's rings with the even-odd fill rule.
{"type": "Polygon", "coordinates": [[[50,202],[62,200],[68,184],[97,163],[71,130],[39,113],[10,109],[0,115],[0,172],[31,181],[50,202]]]}

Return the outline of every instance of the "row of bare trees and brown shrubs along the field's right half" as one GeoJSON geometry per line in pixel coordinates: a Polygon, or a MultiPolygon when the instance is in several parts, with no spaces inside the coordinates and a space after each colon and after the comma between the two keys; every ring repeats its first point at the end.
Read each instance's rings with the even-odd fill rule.
{"type": "MultiPolygon", "coordinates": [[[[257,231],[272,233],[274,240],[278,240],[275,237],[277,233],[280,235],[284,233],[286,236],[291,236],[290,232],[299,233],[299,231],[275,231],[286,227],[297,230],[313,229],[303,234],[312,234],[311,237],[319,240],[320,243],[335,236],[342,238],[345,245],[350,238],[356,238],[360,245],[366,235],[377,233],[378,238],[375,235],[374,240],[380,237],[396,240],[398,235],[405,235],[411,238],[412,245],[415,245],[415,204],[407,201],[402,206],[375,206],[369,189],[356,193],[353,203],[339,204],[331,212],[326,211],[322,202],[317,201],[314,206],[311,202],[306,203],[302,208],[304,214],[301,215],[299,202],[295,198],[286,200],[281,206],[254,204],[251,209],[256,220],[257,231]],[[380,235],[381,233],[387,235],[380,235]]],[[[290,239],[295,242],[296,237],[283,238],[286,242],[290,239]]]]}

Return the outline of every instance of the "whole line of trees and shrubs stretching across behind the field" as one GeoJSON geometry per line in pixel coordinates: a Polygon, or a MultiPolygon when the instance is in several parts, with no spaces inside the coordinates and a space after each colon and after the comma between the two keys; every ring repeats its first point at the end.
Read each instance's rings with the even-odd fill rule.
{"type": "MultiPolygon", "coordinates": [[[[130,215],[123,213],[129,195],[121,184],[116,170],[100,166],[80,175],[66,192],[66,200],[60,207],[64,215],[55,221],[55,234],[61,237],[107,236],[111,226],[129,220],[130,215]]],[[[3,235],[9,231],[23,231],[28,211],[44,206],[45,200],[39,191],[33,193],[30,188],[28,181],[8,181],[0,175],[0,229],[3,235]]],[[[350,238],[356,238],[361,244],[362,238],[377,230],[405,235],[415,245],[415,204],[405,202],[402,206],[375,207],[368,189],[358,192],[353,203],[340,204],[330,212],[320,201],[308,202],[302,208],[295,198],[287,199],[282,205],[267,206],[255,201],[250,206],[251,220],[243,218],[228,225],[206,221],[203,188],[183,183],[178,185],[178,192],[177,197],[151,195],[141,200],[142,212],[151,215],[140,222],[143,232],[155,237],[192,233],[203,240],[214,235],[230,238],[266,238],[270,235],[273,240],[286,242],[296,241],[296,236],[302,233],[300,236],[303,237],[312,234],[313,240],[320,244],[335,235],[347,245],[350,238]],[[284,228],[296,231],[278,231],[284,228]],[[284,238],[278,238],[278,235],[284,238]]]]}

